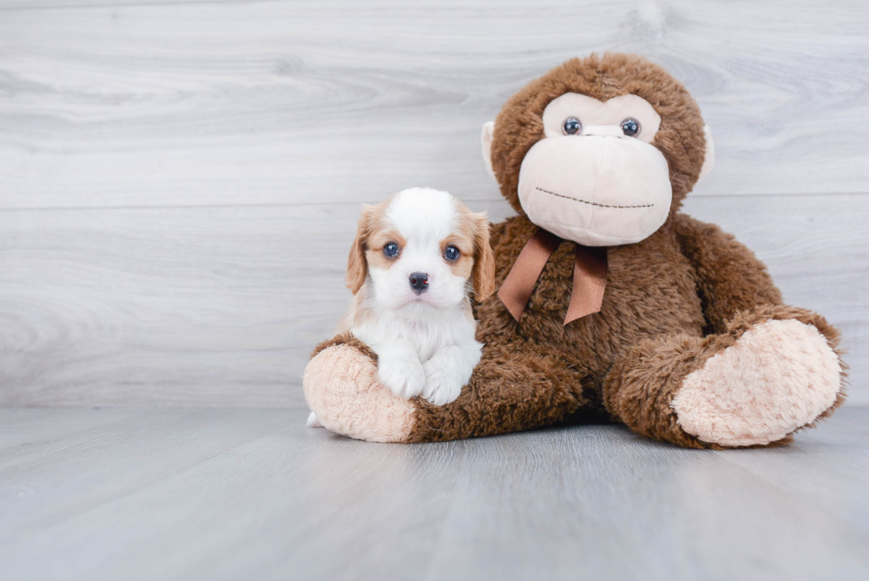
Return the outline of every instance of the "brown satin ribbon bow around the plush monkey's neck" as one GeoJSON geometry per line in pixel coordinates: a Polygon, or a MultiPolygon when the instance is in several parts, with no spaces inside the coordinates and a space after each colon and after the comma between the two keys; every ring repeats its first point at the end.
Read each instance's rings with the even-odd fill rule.
{"type": "MultiPolygon", "coordinates": [[[[507,273],[497,296],[517,321],[525,311],[531,291],[543,272],[546,261],[559,247],[561,239],[552,232],[538,228],[522,248],[513,268],[507,273]]],[[[574,287],[570,293],[568,316],[564,324],[600,310],[607,287],[607,247],[576,245],[574,287]]]]}

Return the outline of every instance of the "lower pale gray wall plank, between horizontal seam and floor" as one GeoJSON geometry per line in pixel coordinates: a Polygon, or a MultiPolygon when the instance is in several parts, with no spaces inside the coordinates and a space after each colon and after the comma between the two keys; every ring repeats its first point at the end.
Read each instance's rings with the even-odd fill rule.
{"type": "MultiPolygon", "coordinates": [[[[493,220],[510,213],[489,208],[493,220]]],[[[356,204],[0,212],[0,404],[304,405],[333,334],[356,204]]],[[[698,197],[824,313],[869,402],[869,196],[698,197]]]]}

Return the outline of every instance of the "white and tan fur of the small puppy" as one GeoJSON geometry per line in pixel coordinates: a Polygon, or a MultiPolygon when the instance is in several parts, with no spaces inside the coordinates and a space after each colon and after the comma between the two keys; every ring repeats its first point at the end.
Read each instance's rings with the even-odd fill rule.
{"type": "Polygon", "coordinates": [[[364,208],[348,259],[347,286],[355,296],[339,332],[377,353],[379,379],[396,395],[448,404],[481,357],[468,292],[473,287],[481,301],[494,279],[485,214],[447,192],[404,190],[364,208]],[[384,252],[389,244],[397,246],[395,256],[384,252]],[[450,247],[458,258],[450,260],[450,247]],[[424,290],[411,284],[419,273],[427,274],[424,290]]]}

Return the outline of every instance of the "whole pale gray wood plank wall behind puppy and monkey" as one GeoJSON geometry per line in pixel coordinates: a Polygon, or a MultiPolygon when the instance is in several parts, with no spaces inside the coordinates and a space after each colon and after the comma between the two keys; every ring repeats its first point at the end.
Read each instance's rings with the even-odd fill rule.
{"type": "Polygon", "coordinates": [[[869,403],[865,0],[0,0],[0,404],[302,405],[360,202],[508,216],[482,123],[606,50],[693,91],[686,211],[841,326],[869,403]]]}

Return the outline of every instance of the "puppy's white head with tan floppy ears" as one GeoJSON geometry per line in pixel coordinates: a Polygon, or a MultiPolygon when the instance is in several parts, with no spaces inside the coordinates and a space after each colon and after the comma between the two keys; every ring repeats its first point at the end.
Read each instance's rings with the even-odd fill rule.
{"type": "Polygon", "coordinates": [[[413,188],[365,206],[350,248],[347,286],[367,280],[381,308],[461,304],[469,286],[482,301],[495,289],[489,221],[447,192],[413,188]]]}

